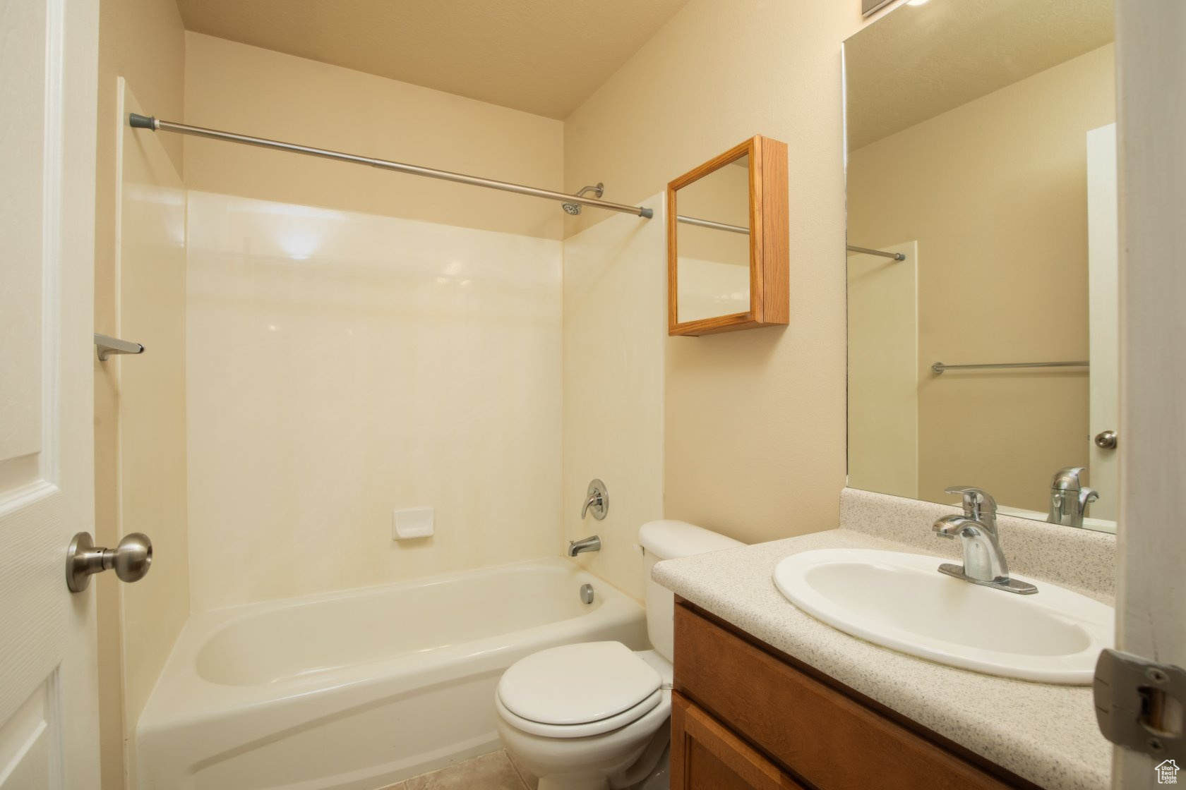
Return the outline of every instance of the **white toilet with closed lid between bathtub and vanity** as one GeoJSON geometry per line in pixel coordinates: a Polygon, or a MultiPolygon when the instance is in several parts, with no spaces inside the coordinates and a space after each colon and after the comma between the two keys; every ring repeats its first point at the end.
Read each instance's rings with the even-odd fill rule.
{"type": "Polygon", "coordinates": [[[651,580],[651,567],[742,544],[687,521],[649,521],[638,542],[653,649],[563,644],[515,662],[498,681],[498,736],[540,790],[668,786],[675,596],[651,580]]]}

